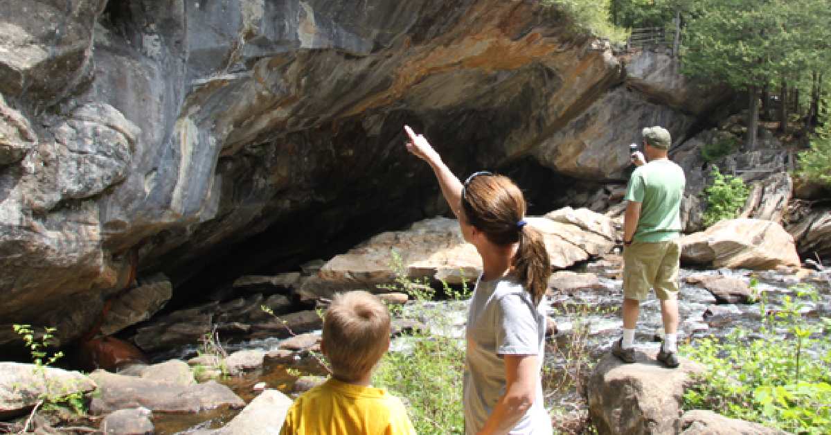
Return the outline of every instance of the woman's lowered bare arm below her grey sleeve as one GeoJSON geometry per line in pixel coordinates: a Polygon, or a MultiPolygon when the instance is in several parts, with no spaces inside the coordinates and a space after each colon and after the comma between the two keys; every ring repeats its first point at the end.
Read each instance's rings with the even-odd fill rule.
{"type": "Polygon", "coordinates": [[[479,435],[508,433],[534,404],[537,393],[537,356],[504,355],[505,393],[499,398],[479,435]]]}

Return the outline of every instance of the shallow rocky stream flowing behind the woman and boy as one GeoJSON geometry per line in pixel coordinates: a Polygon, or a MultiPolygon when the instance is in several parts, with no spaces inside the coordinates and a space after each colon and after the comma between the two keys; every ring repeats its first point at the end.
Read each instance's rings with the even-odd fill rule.
{"type": "MultiPolygon", "coordinates": [[[[589,264],[589,269],[591,269],[589,264]]],[[[622,302],[622,280],[619,271],[594,268],[605,289],[585,289],[570,294],[553,294],[544,299],[548,315],[557,324],[558,333],[549,340],[546,351],[543,385],[546,388],[546,405],[555,409],[555,413],[573,419],[585,419],[587,406],[583,399],[583,380],[588,375],[582,368],[583,363],[599,359],[613,341],[620,336],[622,320],[618,309],[622,302]],[[583,373],[580,373],[581,369],[583,373]]],[[[726,304],[719,305],[715,313],[706,312],[715,304],[715,297],[706,289],[686,284],[690,275],[721,274],[723,276],[750,281],[750,276],[758,281],[755,288],[766,294],[766,310],[778,310],[784,304],[784,298],[795,296],[794,284],[799,283],[791,274],[777,272],[751,272],[740,269],[693,270],[681,269],[681,292],[679,296],[679,342],[713,335],[723,338],[737,327],[758,331],[763,325],[764,316],[761,305],[726,304]],[[708,313],[709,314],[709,313],[708,313]]],[[[826,271],[826,276],[831,269],[826,271]]],[[[823,274],[809,276],[808,283],[818,290],[819,297],[804,303],[802,313],[806,319],[817,320],[820,316],[831,316],[831,288],[823,274]]],[[[430,327],[431,334],[442,334],[462,339],[465,334],[466,301],[432,301],[423,305],[407,304],[403,314],[411,319],[418,319],[430,327]],[[420,311],[415,311],[415,310],[420,311]],[[441,313],[436,316],[435,313],[441,313]]],[[[711,309],[712,311],[713,309],[711,309]]],[[[637,327],[637,347],[641,349],[657,348],[662,334],[661,309],[654,294],[641,306],[637,327]]],[[[783,334],[786,331],[782,331],[783,334]]],[[[319,331],[317,331],[319,334],[319,331]]],[[[276,347],[282,340],[266,339],[234,344],[227,348],[231,353],[245,348],[268,350],[276,347]]],[[[407,352],[411,339],[399,337],[393,340],[391,352],[407,352]]],[[[182,358],[194,354],[194,348],[183,348],[182,358]]],[[[310,364],[308,367],[312,367],[310,364]]],[[[312,368],[300,372],[314,372],[312,368]]],[[[257,393],[253,389],[256,383],[267,383],[269,388],[278,388],[290,394],[297,380],[297,371],[283,367],[267,367],[241,377],[226,378],[221,382],[234,389],[246,403],[257,393]]],[[[322,374],[322,373],[317,373],[322,374]]],[[[189,433],[195,429],[219,428],[233,418],[238,411],[212,411],[207,413],[181,415],[156,415],[157,433],[189,433]]]]}

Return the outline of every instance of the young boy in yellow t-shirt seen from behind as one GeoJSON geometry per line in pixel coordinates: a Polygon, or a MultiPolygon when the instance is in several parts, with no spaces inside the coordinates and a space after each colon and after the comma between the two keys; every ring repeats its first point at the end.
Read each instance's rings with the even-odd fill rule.
{"type": "Polygon", "coordinates": [[[280,434],[415,434],[401,401],[370,387],[372,368],[389,347],[390,314],[381,300],[365,291],[336,294],[320,344],[332,377],[294,401],[280,434]]]}

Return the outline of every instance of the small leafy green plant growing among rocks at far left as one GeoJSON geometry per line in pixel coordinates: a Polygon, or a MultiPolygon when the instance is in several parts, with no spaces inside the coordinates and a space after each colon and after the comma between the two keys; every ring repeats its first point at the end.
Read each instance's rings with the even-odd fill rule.
{"type": "Polygon", "coordinates": [[[47,367],[57,363],[64,356],[62,351],[52,353],[49,350],[49,343],[55,338],[57,328],[44,327],[41,334],[37,334],[31,324],[12,324],[12,329],[20,335],[29,349],[32,363],[35,365],[35,374],[43,378],[46,391],[38,397],[38,400],[43,403],[43,409],[55,410],[66,405],[76,414],[84,415],[86,413],[84,393],[76,391],[74,384],[59,382],[47,377],[47,367]]]}

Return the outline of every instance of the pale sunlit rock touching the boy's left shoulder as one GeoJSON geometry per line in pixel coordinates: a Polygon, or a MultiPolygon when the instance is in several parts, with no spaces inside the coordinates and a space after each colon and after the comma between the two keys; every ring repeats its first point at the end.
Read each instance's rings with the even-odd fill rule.
{"type": "Polygon", "coordinates": [[[265,390],[248,403],[224,428],[215,435],[249,435],[253,433],[279,433],[283,427],[292,399],[278,390],[265,390]]]}

